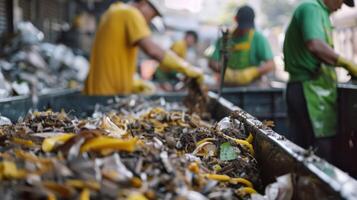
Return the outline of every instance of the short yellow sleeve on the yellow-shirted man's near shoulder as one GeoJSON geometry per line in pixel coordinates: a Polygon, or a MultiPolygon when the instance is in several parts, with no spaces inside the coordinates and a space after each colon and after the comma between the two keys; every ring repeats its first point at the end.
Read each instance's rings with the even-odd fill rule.
{"type": "Polygon", "coordinates": [[[151,32],[144,16],[135,8],[128,10],[126,20],[127,34],[130,44],[150,36],[151,32]]]}

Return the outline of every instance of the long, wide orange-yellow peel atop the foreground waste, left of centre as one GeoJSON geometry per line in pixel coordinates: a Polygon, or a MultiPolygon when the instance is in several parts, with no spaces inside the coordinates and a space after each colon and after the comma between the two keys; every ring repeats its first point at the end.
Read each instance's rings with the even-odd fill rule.
{"type": "Polygon", "coordinates": [[[105,151],[105,150],[119,150],[126,152],[135,151],[138,139],[132,138],[128,140],[116,139],[106,136],[99,136],[90,139],[84,143],[80,149],[81,153],[88,151],[105,151]]]}

